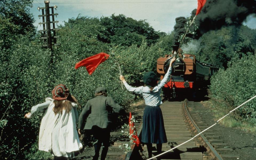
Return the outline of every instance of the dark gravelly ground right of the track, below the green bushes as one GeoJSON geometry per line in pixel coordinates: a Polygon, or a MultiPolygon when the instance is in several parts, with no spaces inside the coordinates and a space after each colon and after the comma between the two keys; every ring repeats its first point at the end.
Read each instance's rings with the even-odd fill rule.
{"type": "MultiPolygon", "coordinates": [[[[217,120],[216,109],[210,101],[188,102],[190,115],[200,130],[213,125],[217,120]]],[[[221,117],[219,117],[221,118],[221,117]]],[[[252,160],[256,157],[256,133],[238,127],[225,127],[218,124],[203,133],[224,160],[252,160]]]]}

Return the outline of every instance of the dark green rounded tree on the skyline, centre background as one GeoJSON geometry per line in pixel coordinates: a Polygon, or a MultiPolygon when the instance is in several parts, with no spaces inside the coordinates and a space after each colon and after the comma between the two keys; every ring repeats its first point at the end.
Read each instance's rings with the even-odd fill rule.
{"type": "Polygon", "coordinates": [[[113,45],[131,46],[135,43],[140,46],[143,39],[151,45],[159,38],[158,32],[145,20],[137,21],[123,14],[101,17],[100,25],[106,27],[105,37],[101,37],[101,41],[113,45]]]}

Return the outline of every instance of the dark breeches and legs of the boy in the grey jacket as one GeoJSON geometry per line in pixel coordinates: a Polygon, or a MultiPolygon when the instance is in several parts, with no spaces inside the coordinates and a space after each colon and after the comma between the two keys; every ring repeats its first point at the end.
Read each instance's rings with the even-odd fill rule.
{"type": "Polygon", "coordinates": [[[107,151],[109,150],[109,139],[110,139],[110,130],[109,129],[102,129],[99,127],[93,127],[91,129],[93,139],[94,139],[94,150],[95,150],[95,155],[93,156],[93,160],[98,160],[99,158],[99,151],[102,147],[101,151],[101,160],[105,160],[107,156],[107,151]]]}

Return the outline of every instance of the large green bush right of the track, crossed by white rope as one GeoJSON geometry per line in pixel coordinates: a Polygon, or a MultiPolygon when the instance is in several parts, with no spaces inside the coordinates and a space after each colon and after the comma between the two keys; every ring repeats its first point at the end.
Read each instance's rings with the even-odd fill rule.
{"type": "MultiPolygon", "coordinates": [[[[256,55],[243,56],[235,59],[227,70],[219,70],[211,79],[210,98],[224,112],[233,110],[253,97],[256,93],[256,55]]],[[[234,111],[237,120],[256,123],[256,99],[246,103],[234,111]]]]}

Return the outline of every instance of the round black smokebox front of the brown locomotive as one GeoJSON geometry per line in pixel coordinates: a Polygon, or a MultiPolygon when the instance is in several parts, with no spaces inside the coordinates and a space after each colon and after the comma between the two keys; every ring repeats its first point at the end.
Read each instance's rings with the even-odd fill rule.
{"type": "MultiPolygon", "coordinates": [[[[170,66],[171,59],[172,57],[165,61],[165,64],[163,66],[165,73],[167,72],[170,66]]],[[[171,75],[174,75],[174,76],[184,75],[185,71],[186,71],[185,62],[181,58],[176,58],[175,62],[173,63],[173,69],[172,69],[171,75]]]]}

